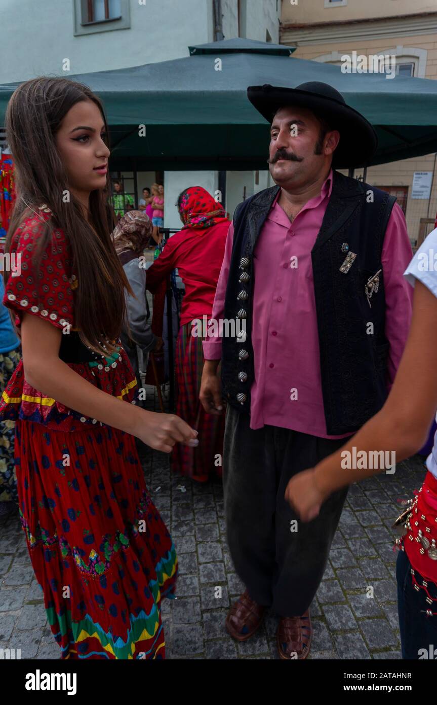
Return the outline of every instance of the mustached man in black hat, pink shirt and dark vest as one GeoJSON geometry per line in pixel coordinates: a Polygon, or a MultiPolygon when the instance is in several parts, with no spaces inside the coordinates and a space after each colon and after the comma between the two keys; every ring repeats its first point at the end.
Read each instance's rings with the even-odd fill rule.
{"type": "Polygon", "coordinates": [[[367,166],[377,144],[338,91],[264,85],[248,98],[271,124],[277,185],[236,208],[213,319],[246,328],[203,343],[201,400],[210,413],[227,403],[227,541],[246,585],[227,630],[248,639],[272,607],[280,658],[306,658],[347,489],[308,523],[284,493],[384,404],[410,325],[412,250],[395,199],[335,170],[367,166]]]}

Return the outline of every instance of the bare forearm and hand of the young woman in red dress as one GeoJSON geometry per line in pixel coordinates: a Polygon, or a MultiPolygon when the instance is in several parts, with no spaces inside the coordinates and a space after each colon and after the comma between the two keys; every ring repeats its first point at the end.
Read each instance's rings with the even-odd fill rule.
{"type": "Polygon", "coordinates": [[[61,329],[24,314],[21,345],[25,379],[61,404],[103,424],[137,436],[155,450],[170,453],[176,442],[197,445],[197,431],[178,416],[156,414],[96,388],[59,357],[61,329]]]}

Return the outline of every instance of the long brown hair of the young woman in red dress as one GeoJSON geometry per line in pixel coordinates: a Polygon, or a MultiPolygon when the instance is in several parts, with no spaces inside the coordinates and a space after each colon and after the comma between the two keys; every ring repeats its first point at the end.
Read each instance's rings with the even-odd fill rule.
{"type": "Polygon", "coordinates": [[[75,327],[80,329],[85,345],[108,355],[115,348],[106,339],[115,341],[120,336],[126,317],[125,288],[132,293],[110,238],[115,222],[107,204],[109,171],[106,192],[91,191],[87,221],[71,192],[70,202],[64,202],[68,177],[55,143],[63,118],[83,100],[92,100],[99,107],[108,134],[100,99],[81,83],[66,78],[34,78],[13,93],[6,111],[6,139],[15,161],[17,197],[5,252],[11,249],[20,224],[32,211],[38,212],[40,205],[47,204],[53,215],[35,249],[35,266],[39,266],[53,230],[61,228],[70,243],[73,271],[79,281],[75,290],[75,327]]]}

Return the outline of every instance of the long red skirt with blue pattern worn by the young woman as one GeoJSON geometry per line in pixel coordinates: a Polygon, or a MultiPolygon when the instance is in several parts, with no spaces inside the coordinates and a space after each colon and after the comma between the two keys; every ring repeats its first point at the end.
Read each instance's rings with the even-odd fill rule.
{"type": "Polygon", "coordinates": [[[177,557],[133,436],[18,421],[20,519],[61,658],[165,658],[177,557]]]}

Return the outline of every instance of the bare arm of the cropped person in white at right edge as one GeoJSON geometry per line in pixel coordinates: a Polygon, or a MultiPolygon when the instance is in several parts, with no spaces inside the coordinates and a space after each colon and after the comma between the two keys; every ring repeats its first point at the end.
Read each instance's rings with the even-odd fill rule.
{"type": "Polygon", "coordinates": [[[340,450],[292,477],[287,486],[285,498],[303,521],[316,517],[335,490],[381,472],[381,468],[341,467],[342,458],[348,457],[344,451],[352,457],[354,446],[356,453],[388,450],[399,462],[419,450],[437,407],[436,360],[437,298],[416,281],[410,333],[384,407],[340,450]]]}

